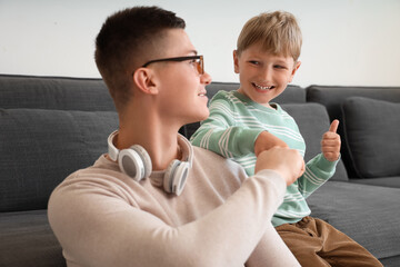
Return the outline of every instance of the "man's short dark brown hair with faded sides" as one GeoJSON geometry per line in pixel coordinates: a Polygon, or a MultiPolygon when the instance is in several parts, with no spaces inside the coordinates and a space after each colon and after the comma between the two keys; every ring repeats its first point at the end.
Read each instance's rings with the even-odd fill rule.
{"type": "Polygon", "coordinates": [[[184,20],[158,7],[134,7],[107,18],[96,39],[96,63],[117,110],[131,97],[132,75],[162,49],[167,29],[184,29],[184,20]]]}

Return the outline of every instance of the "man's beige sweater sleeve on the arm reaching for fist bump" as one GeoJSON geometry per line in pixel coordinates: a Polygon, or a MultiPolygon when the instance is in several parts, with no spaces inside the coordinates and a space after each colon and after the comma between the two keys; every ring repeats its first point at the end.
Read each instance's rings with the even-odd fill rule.
{"type": "MultiPolygon", "coordinates": [[[[263,235],[277,240],[270,220],[286,190],[277,172],[262,170],[223,205],[172,227],[151,207],[139,209],[123,194],[116,197],[107,180],[77,179],[53,191],[48,209],[71,266],[243,266],[263,235]]],[[[278,240],[276,249],[267,250],[268,264],[298,266],[278,240]]]]}

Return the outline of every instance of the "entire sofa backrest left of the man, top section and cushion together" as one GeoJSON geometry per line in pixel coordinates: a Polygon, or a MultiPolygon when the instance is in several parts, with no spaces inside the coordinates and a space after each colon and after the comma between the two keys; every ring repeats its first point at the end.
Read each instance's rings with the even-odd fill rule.
{"type": "Polygon", "coordinates": [[[0,211],[46,209],[69,174],[107,152],[118,116],[101,79],[0,76],[0,211]]]}

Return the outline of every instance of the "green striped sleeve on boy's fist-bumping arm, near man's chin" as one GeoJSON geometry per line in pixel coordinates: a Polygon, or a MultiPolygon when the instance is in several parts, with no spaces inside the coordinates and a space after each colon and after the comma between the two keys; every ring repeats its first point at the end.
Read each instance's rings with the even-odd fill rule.
{"type": "Polygon", "coordinates": [[[210,101],[210,116],[190,138],[194,146],[211,150],[224,158],[238,158],[254,152],[254,142],[263,129],[237,123],[238,112],[224,93],[210,101]]]}

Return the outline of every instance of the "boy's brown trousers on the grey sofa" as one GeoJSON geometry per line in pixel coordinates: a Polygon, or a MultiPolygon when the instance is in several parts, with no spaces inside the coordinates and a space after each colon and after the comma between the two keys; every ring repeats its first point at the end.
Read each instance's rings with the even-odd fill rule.
{"type": "Polygon", "coordinates": [[[308,216],[276,229],[301,266],[382,266],[366,248],[321,219],[308,216]]]}

